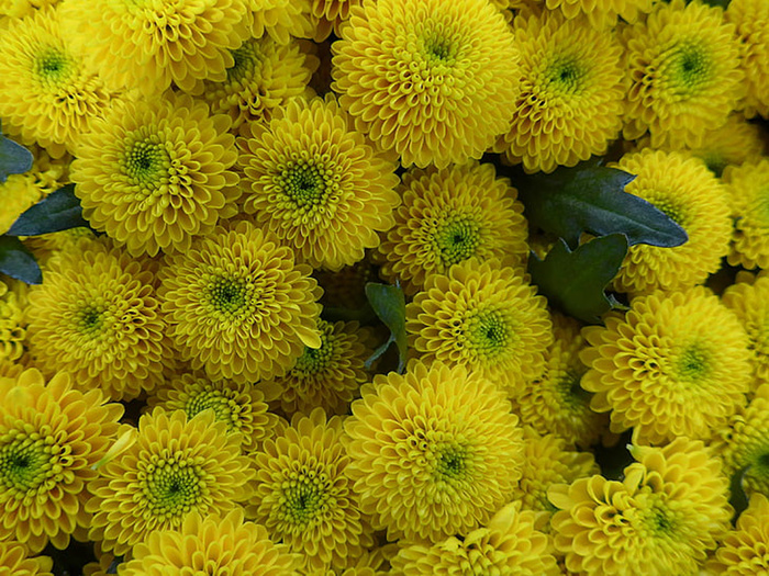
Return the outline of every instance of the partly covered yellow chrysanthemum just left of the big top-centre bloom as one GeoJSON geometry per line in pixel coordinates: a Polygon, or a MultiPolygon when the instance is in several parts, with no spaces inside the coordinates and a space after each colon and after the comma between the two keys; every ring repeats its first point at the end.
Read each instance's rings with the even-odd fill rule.
{"type": "Polygon", "coordinates": [[[203,98],[214,114],[229,114],[236,131],[246,122],[269,121],[293,97],[312,98],[308,88],[320,60],[297,41],[278,44],[250,38],[232,50],[235,64],[222,82],[205,82],[203,98]]]}

